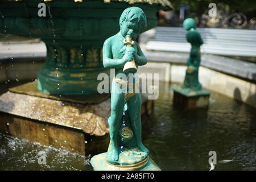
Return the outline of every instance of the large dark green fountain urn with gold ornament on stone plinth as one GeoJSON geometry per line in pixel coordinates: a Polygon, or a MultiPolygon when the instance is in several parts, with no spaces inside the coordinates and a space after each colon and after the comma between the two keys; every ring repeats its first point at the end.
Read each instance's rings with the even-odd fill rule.
{"type": "Polygon", "coordinates": [[[0,32],[41,38],[46,44],[46,62],[37,79],[40,91],[95,94],[98,74],[109,74],[102,64],[104,40],[119,31],[119,16],[130,6],[146,14],[143,31],[156,26],[158,10],[172,9],[168,0],[2,0],[0,32]]]}

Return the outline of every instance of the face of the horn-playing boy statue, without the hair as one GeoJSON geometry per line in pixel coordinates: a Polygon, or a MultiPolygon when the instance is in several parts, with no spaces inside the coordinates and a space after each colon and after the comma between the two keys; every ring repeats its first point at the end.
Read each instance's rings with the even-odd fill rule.
{"type": "Polygon", "coordinates": [[[136,20],[123,21],[120,26],[121,34],[124,38],[129,36],[132,40],[136,40],[140,34],[139,24],[136,20]]]}

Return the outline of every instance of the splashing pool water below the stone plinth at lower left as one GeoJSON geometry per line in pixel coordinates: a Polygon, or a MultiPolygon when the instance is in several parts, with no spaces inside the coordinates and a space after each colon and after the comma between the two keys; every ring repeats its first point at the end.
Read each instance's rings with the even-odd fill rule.
{"type": "Polygon", "coordinates": [[[90,155],[84,156],[43,146],[38,142],[0,133],[0,170],[91,170],[90,155]],[[38,164],[39,152],[46,153],[46,165],[38,164]]]}

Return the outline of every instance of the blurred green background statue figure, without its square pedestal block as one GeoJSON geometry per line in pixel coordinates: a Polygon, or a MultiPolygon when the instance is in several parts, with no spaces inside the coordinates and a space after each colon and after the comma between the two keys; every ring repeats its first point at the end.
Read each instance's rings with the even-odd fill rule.
{"type": "Polygon", "coordinates": [[[188,31],[187,41],[191,43],[190,56],[187,61],[187,71],[183,87],[200,89],[202,85],[198,80],[199,66],[201,61],[200,46],[204,43],[199,32],[196,31],[196,22],[192,18],[187,18],[183,22],[183,27],[188,31]]]}

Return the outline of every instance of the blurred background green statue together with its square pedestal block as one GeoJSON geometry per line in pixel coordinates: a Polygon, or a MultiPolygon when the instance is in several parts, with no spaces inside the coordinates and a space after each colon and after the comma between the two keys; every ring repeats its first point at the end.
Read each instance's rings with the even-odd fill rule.
{"type": "Polygon", "coordinates": [[[204,43],[199,32],[196,31],[196,22],[192,18],[183,21],[187,30],[187,41],[191,44],[190,55],[187,60],[187,70],[181,86],[174,86],[174,106],[183,109],[197,109],[208,107],[210,92],[199,82],[199,67],[201,61],[200,47],[204,43]]]}

